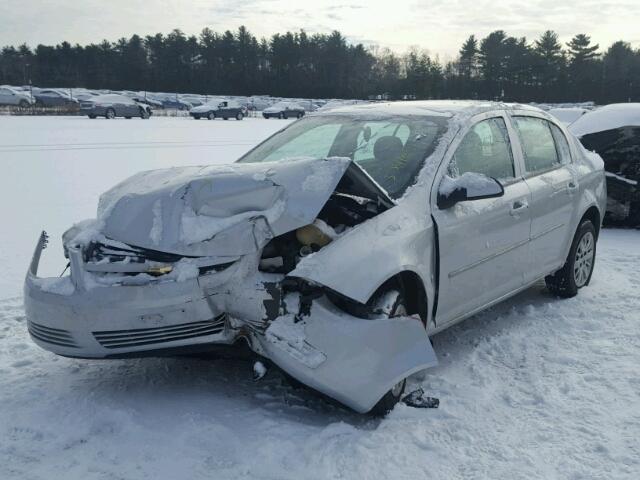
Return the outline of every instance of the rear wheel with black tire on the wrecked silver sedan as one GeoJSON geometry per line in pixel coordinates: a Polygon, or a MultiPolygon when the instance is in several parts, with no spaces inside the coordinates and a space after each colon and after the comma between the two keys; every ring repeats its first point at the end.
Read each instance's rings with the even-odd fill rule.
{"type": "Polygon", "coordinates": [[[571,298],[578,294],[579,289],[589,285],[596,263],[596,243],[596,229],[591,220],[585,220],[573,236],[564,266],[545,278],[552,293],[571,298]]]}

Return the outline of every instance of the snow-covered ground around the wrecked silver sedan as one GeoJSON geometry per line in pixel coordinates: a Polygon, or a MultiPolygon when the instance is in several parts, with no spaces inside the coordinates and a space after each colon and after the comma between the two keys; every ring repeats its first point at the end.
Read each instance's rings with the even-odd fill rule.
{"type": "MultiPolygon", "coordinates": [[[[536,286],[434,337],[437,410],[374,420],[215,358],[87,361],[28,338],[20,289],[129,174],[231,161],[282,122],[0,117],[1,479],[636,479],[640,232],[606,230],[591,286],[536,286]]],[[[57,262],[57,264],[56,264],[57,262]]]]}

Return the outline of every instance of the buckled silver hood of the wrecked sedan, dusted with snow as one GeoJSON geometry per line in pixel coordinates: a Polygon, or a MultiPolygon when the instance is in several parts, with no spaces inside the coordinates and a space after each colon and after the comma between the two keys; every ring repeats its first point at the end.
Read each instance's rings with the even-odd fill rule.
{"type": "Polygon", "coordinates": [[[349,158],[180,167],[138,173],[100,197],[108,238],[185,256],[237,256],[316,218],[349,158]]]}

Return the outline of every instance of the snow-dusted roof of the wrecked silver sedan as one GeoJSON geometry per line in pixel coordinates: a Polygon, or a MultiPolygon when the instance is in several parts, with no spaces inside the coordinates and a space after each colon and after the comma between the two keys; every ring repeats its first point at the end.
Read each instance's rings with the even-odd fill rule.
{"type": "MultiPolygon", "coordinates": [[[[425,115],[453,117],[460,114],[475,115],[494,110],[530,110],[544,113],[531,105],[501,103],[480,100],[419,100],[403,102],[376,102],[335,107],[322,114],[379,114],[379,115],[425,115]]],[[[320,115],[322,115],[320,114],[320,115]]]]}

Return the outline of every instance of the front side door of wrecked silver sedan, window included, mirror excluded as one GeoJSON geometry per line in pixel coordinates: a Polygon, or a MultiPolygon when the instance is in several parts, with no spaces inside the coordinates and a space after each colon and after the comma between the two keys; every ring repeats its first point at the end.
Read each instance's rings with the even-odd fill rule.
{"type": "Polygon", "coordinates": [[[436,328],[480,310],[521,288],[528,266],[530,191],[511,147],[505,115],[481,115],[454,141],[434,183],[431,205],[438,229],[439,292],[436,328]],[[465,172],[494,177],[504,196],[439,209],[444,175],[465,172]]]}

